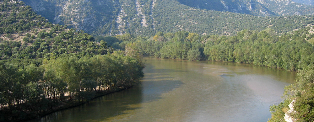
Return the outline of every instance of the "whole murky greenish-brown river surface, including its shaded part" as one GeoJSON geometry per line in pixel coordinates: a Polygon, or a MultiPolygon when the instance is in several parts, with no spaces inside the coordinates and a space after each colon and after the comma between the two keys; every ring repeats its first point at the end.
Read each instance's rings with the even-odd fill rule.
{"type": "Polygon", "coordinates": [[[213,61],[144,58],[133,88],[57,111],[39,121],[265,122],[295,72],[213,61]]]}

